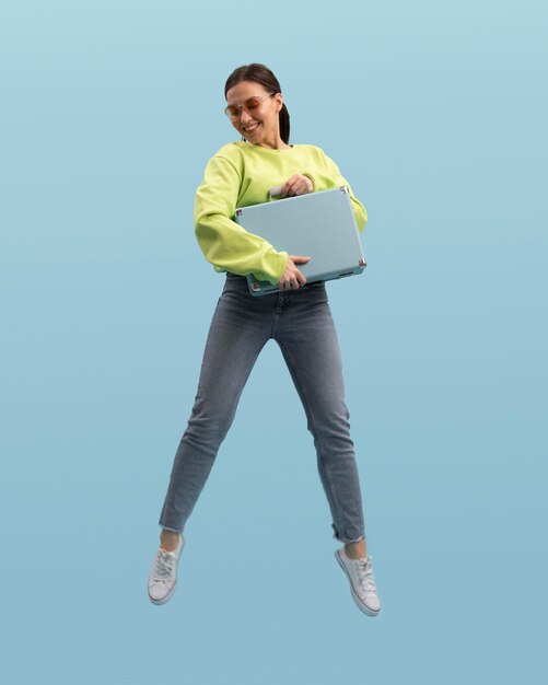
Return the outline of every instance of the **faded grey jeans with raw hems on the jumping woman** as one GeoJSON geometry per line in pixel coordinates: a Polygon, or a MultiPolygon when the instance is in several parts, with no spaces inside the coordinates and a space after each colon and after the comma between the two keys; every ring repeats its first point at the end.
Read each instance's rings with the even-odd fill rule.
{"type": "Polygon", "coordinates": [[[226,276],[211,322],[198,392],[175,455],[160,525],[183,532],[244,385],[270,338],[280,346],[306,413],[335,537],[355,542],[364,537],[360,483],[325,285],[254,298],[246,279],[233,274],[226,276]]]}

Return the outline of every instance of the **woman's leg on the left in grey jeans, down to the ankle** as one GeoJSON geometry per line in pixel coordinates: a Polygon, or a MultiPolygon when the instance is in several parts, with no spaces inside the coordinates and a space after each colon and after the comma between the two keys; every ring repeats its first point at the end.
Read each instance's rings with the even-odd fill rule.
{"type": "Polygon", "coordinates": [[[269,337],[266,303],[250,302],[255,298],[244,285],[245,279],[244,283],[226,280],[211,322],[194,408],[175,454],[160,516],[167,549],[176,544],[198,500],[247,378],[269,337]]]}

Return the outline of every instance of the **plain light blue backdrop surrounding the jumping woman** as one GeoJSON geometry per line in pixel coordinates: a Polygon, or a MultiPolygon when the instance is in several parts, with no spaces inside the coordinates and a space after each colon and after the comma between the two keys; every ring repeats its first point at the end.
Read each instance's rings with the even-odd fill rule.
{"type": "Polygon", "coordinates": [[[546,3],[0,7],[5,682],[540,682],[546,3]],[[223,283],[194,190],[237,138],[223,85],[249,61],[278,76],[292,141],[331,155],[370,216],[365,274],[329,294],[374,620],[333,557],[275,344],[187,526],[177,594],[145,594],[223,283]]]}

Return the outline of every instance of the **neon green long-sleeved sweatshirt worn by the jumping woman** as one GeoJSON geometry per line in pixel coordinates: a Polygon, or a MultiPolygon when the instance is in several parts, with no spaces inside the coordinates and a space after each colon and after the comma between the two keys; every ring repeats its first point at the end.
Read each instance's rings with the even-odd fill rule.
{"type": "MultiPolygon", "coordinates": [[[[335,162],[315,146],[272,150],[244,141],[231,142],[211,158],[196,191],[194,220],[201,251],[217,271],[254,274],[260,280],[278,283],[288,253],[277,252],[233,218],[236,207],[267,202],[270,188],[283,185],[294,174],[307,176],[314,191],[342,185],[350,188],[335,162]]],[[[350,198],[361,232],[368,214],[351,188],[350,198]]]]}

